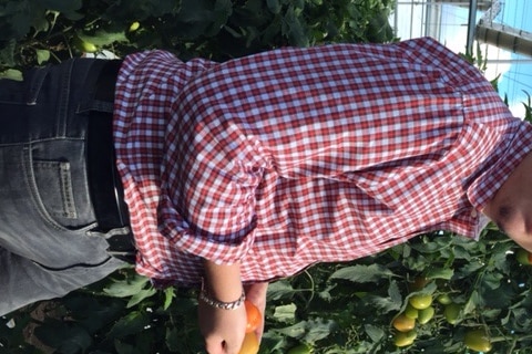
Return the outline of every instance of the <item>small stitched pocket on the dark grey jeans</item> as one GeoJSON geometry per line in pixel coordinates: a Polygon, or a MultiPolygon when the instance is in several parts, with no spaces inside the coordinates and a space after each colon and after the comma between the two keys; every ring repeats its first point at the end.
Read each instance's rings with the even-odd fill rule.
{"type": "Polygon", "coordinates": [[[35,185],[44,208],[54,219],[75,219],[78,212],[69,162],[33,160],[35,185]]]}

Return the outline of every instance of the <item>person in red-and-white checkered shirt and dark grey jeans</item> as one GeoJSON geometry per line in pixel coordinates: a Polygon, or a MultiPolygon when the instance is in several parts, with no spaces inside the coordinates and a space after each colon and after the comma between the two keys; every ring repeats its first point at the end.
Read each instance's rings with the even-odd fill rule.
{"type": "MultiPolygon", "coordinates": [[[[432,230],[478,238],[489,218],[532,249],[532,127],[512,116],[477,69],[433,39],[283,48],[224,63],[147,51],[126,56],[117,74],[100,61],[76,73],[72,65],[80,62],[59,66],[72,73],[61,85],[33,76],[32,85],[17,84],[38,102],[63,95],[65,103],[50,104],[48,114],[27,117],[17,107],[0,117],[1,215],[16,220],[2,221],[0,246],[8,259],[47,271],[22,277],[16,266],[2,267],[0,283],[10,298],[28,283],[48,287],[64,277],[68,285],[60,289],[66,292],[104,277],[122,264],[119,256],[132,252],[132,235],[136,271],[155,287],[200,288],[207,351],[237,353],[243,299],[264,310],[268,282],[317,262],[374,254],[432,230]],[[101,94],[112,87],[109,81],[115,87],[101,94]],[[112,119],[98,118],[102,102],[114,103],[112,119]],[[100,121],[108,125],[93,127],[100,121]],[[12,134],[29,128],[13,143],[12,134]],[[112,134],[113,147],[85,154],[85,146],[101,145],[91,132],[112,134]],[[48,144],[60,148],[41,152],[48,144]],[[79,166],[85,155],[89,173],[79,166]],[[113,166],[100,174],[110,158],[113,166]],[[34,171],[49,160],[59,160],[54,183],[62,191],[49,190],[53,178],[34,171]],[[65,170],[81,177],[68,180],[65,170]],[[96,190],[100,184],[106,191],[96,190]],[[50,211],[35,189],[71,214],[44,221],[50,211]],[[73,200],[60,200],[64,189],[73,200]],[[99,198],[109,195],[102,206],[99,198]],[[113,222],[104,222],[108,215],[113,222]],[[44,225],[50,231],[41,231],[44,225]],[[65,241],[55,232],[71,235],[65,241]],[[109,257],[102,243],[114,236],[119,246],[111,244],[109,257]],[[39,247],[25,251],[35,238],[39,247]],[[81,254],[63,260],[80,247],[81,254]],[[49,260],[48,249],[59,259],[49,260]],[[82,277],[63,275],[69,264],[81,264],[82,277]]],[[[14,91],[0,88],[9,105],[14,91]]],[[[24,110],[35,108],[31,104],[24,110]]],[[[20,305],[2,302],[0,313],[20,305]]]]}

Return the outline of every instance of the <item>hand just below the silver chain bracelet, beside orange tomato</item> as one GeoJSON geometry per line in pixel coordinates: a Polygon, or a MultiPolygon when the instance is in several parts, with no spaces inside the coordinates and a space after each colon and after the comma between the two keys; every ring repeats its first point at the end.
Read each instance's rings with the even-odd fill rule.
{"type": "Polygon", "coordinates": [[[246,331],[246,310],[221,310],[198,303],[200,330],[209,354],[237,354],[246,331]]]}

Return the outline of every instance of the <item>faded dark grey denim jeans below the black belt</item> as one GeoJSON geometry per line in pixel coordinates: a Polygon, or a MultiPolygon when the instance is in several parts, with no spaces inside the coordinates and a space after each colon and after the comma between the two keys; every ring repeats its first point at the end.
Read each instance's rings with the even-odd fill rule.
{"type": "Polygon", "coordinates": [[[0,80],[0,315],[124,264],[93,231],[88,119],[110,108],[92,100],[98,65],[75,59],[0,80]]]}

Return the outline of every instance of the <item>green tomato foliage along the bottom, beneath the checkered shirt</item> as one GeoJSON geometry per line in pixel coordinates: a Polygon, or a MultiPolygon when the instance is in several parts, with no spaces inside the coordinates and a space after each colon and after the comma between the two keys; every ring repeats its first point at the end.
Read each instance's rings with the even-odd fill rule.
{"type": "MultiPolygon", "coordinates": [[[[326,354],[473,353],[464,337],[479,329],[494,353],[530,353],[532,266],[518,261],[518,250],[494,229],[478,242],[436,232],[274,282],[260,353],[286,353],[300,344],[326,354]],[[399,348],[392,321],[419,294],[432,296],[436,314],[424,324],[418,320],[413,344],[399,348]],[[441,295],[459,310],[453,321],[441,295]]],[[[193,290],[156,292],[123,269],[55,302],[34,336],[57,353],[202,353],[195,299],[193,290]]],[[[35,322],[30,315],[39,306],[13,313],[14,327],[0,326],[9,353],[38,353],[22,329],[35,322]]]]}

